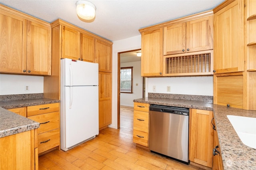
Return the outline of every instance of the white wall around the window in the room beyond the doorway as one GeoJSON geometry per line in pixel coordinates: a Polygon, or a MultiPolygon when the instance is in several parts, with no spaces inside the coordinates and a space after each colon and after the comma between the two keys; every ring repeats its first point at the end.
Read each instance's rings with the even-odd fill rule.
{"type": "Polygon", "coordinates": [[[120,94],[120,105],[133,107],[133,100],[142,98],[143,89],[143,77],[140,75],[141,62],[129,62],[121,63],[120,67],[133,67],[132,68],[132,92],[133,93],[121,93],[120,94]],[[138,86],[136,86],[138,84],[138,86]]]}

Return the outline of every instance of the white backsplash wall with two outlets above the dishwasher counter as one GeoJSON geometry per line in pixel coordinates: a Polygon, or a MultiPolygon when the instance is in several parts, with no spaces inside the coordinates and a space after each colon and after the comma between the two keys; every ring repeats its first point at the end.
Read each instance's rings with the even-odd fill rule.
{"type": "Polygon", "coordinates": [[[202,77],[150,77],[148,93],[213,96],[213,76],[202,77]],[[156,91],[153,91],[156,86],[156,91]],[[167,92],[167,86],[171,91],[167,92]]]}

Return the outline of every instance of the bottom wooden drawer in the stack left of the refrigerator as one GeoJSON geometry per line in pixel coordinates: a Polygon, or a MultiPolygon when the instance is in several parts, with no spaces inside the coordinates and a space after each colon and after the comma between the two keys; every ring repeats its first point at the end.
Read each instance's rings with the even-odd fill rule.
{"type": "Polygon", "coordinates": [[[38,153],[60,145],[60,129],[38,134],[38,153]]]}

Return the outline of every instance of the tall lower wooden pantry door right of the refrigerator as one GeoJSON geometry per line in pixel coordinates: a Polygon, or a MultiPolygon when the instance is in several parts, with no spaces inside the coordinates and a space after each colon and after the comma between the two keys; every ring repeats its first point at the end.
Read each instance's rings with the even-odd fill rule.
{"type": "Polygon", "coordinates": [[[99,128],[112,123],[112,73],[99,72],[99,128]]]}

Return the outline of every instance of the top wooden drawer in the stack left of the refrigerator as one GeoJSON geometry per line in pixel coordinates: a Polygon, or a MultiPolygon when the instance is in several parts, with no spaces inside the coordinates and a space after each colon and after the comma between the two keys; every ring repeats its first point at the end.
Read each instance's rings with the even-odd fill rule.
{"type": "Polygon", "coordinates": [[[27,116],[40,115],[59,111],[59,103],[51,103],[46,105],[36,105],[27,107],[27,116]]]}

